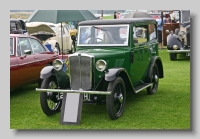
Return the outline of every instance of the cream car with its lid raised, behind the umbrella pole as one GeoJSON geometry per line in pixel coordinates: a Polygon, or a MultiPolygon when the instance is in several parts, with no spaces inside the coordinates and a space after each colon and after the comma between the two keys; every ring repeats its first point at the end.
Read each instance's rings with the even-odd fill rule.
{"type": "Polygon", "coordinates": [[[51,49],[58,54],[62,51],[63,37],[63,53],[73,53],[74,43],[70,36],[70,31],[63,24],[61,34],[61,23],[54,24],[49,22],[31,22],[26,23],[29,35],[37,37],[44,45],[50,44],[51,49]]]}

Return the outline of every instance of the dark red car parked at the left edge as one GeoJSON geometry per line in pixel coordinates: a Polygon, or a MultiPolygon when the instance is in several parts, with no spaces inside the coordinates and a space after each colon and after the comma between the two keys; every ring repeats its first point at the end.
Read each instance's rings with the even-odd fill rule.
{"type": "Polygon", "coordinates": [[[10,34],[10,90],[31,83],[40,85],[40,71],[59,55],[29,35],[10,34]]]}

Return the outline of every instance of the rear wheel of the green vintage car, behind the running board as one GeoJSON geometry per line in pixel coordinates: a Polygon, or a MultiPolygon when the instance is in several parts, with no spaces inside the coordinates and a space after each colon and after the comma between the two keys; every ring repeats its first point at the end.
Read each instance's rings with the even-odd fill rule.
{"type": "Polygon", "coordinates": [[[156,63],[154,63],[154,65],[151,65],[150,67],[147,75],[147,82],[152,83],[152,85],[147,88],[147,93],[149,95],[155,94],[158,90],[159,83],[159,71],[156,63]]]}

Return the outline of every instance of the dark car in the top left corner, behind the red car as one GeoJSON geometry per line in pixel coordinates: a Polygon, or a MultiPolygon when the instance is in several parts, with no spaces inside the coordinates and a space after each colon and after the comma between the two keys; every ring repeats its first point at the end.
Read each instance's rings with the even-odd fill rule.
{"type": "Polygon", "coordinates": [[[10,18],[10,34],[23,34],[22,25],[18,19],[10,18]]]}

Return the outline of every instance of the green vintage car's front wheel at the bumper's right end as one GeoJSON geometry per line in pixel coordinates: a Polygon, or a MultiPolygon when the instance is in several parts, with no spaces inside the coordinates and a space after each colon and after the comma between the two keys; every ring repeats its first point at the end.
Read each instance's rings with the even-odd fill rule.
{"type": "Polygon", "coordinates": [[[126,102],[126,88],[121,77],[108,84],[108,91],[112,91],[111,95],[106,96],[106,108],[109,117],[115,120],[122,116],[126,102]]]}

